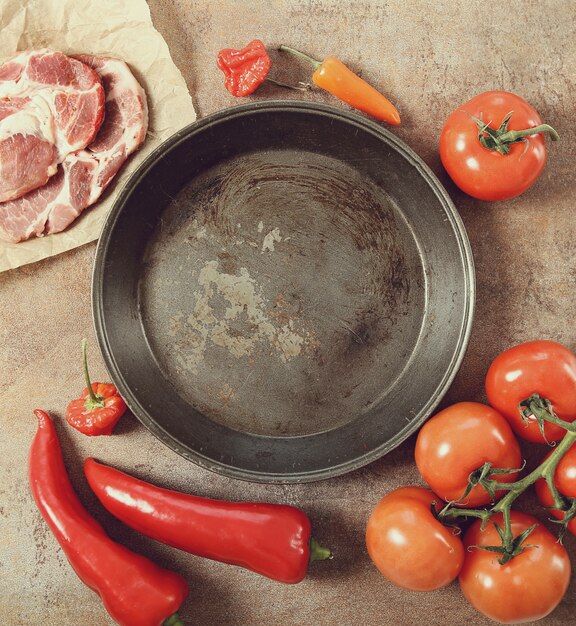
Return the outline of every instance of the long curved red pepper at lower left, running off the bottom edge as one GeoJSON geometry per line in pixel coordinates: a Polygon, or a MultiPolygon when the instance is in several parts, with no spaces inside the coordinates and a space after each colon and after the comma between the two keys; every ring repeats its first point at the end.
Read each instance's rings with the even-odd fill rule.
{"type": "Polygon", "coordinates": [[[28,478],[34,500],[70,565],[100,595],[121,626],[182,626],[176,611],[188,595],[179,574],[112,541],[74,492],[54,424],[36,410],[28,478]]]}

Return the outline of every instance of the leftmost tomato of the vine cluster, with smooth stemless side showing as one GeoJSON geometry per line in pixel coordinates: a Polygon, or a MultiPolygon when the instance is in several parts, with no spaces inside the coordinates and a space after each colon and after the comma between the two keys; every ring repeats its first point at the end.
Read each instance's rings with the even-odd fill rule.
{"type": "Polygon", "coordinates": [[[399,587],[439,589],[462,567],[462,541],[434,517],[434,501],[440,499],[428,489],[402,487],[384,496],[368,520],[368,554],[382,575],[399,587]]]}

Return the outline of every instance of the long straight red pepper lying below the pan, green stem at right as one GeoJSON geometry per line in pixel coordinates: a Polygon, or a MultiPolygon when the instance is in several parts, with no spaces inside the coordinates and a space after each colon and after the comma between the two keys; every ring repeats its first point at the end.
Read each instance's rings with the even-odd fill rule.
{"type": "Polygon", "coordinates": [[[311,538],[310,520],[293,506],[224,502],[162,489],[92,458],[84,473],[119,520],[196,556],[239,565],[283,583],[298,583],[308,563],[331,557],[311,538]]]}

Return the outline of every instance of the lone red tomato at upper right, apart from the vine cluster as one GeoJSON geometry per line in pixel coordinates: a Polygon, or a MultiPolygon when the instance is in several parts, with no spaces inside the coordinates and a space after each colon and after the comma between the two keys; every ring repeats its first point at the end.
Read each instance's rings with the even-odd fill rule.
{"type": "MultiPolygon", "coordinates": [[[[462,191],[480,200],[505,200],[526,191],[536,182],[546,163],[544,135],[510,145],[508,154],[485,148],[473,118],[498,129],[514,111],[508,130],[526,130],[542,124],[525,100],[506,91],[488,91],[458,107],[446,120],[440,136],[440,158],[462,191]]],[[[556,136],[557,137],[557,136],[556,136]]]]}

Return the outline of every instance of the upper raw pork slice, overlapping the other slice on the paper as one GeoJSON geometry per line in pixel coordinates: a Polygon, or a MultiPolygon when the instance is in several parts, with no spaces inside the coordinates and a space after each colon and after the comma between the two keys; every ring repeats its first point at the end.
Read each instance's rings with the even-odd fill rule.
{"type": "Polygon", "coordinates": [[[104,117],[98,74],[61,52],[27,50],[0,66],[0,202],[44,185],[104,117]]]}

